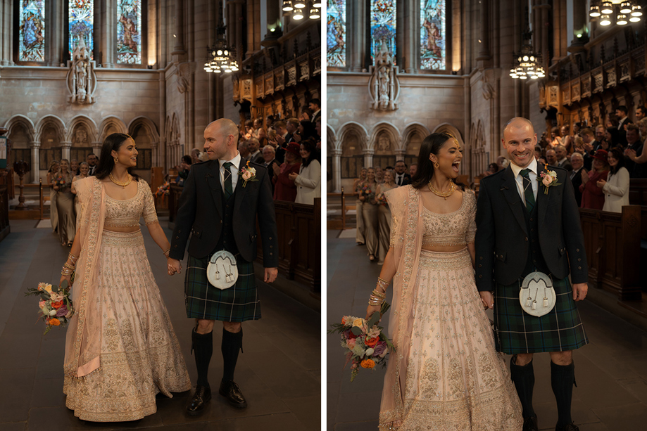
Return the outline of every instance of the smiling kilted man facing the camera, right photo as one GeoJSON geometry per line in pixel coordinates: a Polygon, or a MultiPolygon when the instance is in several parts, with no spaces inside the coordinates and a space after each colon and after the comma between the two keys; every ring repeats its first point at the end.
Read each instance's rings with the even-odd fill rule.
{"type": "Polygon", "coordinates": [[[534,158],[536,141],[529,120],[510,120],[503,129],[503,148],[510,165],[481,180],[476,283],[483,304],[494,308],[498,351],[515,355],[510,374],[523,407],[523,430],[537,430],[532,408],[532,355],[549,352],[551,385],[558,406],[555,430],[577,431],[570,416],[572,350],[589,342],[575,306],[588,290],[584,236],[565,169],[551,167],[557,175],[552,186],[537,180],[543,169],[534,158]],[[519,302],[521,283],[534,271],[550,274],[556,295],[555,308],[541,317],[527,314],[519,302]]]}

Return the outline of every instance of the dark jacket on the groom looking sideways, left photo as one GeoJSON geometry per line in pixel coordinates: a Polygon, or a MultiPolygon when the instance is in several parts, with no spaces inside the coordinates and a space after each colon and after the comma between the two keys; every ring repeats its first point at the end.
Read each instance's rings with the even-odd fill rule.
{"type": "MultiPolygon", "coordinates": [[[[241,161],[242,163],[242,161],[241,161]]],[[[268,170],[263,165],[249,163],[256,169],[258,181],[239,177],[234,190],[232,226],[223,222],[225,195],[220,185],[220,164],[210,160],[191,166],[180,196],[175,229],[171,238],[170,257],[184,258],[184,248],[191,233],[189,255],[201,259],[214,252],[223,229],[233,229],[234,240],[241,257],[252,262],[256,257],[256,216],[263,243],[263,267],[276,268],[279,263],[277,225],[268,170]]]]}

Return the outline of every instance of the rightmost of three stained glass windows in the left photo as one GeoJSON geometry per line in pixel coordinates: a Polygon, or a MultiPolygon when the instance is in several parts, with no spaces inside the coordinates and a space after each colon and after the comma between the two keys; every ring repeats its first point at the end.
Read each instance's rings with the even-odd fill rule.
{"type": "Polygon", "coordinates": [[[142,0],[117,0],[117,63],[142,64],[142,0]]]}

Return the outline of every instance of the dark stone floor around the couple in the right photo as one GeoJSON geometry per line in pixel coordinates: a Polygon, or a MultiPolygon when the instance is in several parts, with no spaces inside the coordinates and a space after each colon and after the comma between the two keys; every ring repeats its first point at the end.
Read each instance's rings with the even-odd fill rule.
{"type": "MultiPolygon", "coordinates": [[[[344,314],[365,316],[368,295],[375,288],[379,266],[353,238],[328,231],[326,319],[344,314]]],[[[389,297],[389,294],[387,294],[389,297]]],[[[574,352],[572,417],[581,431],[647,430],[647,333],[584,301],[579,306],[591,343],[574,352]]],[[[382,320],[388,325],[388,316],[382,320]]],[[[384,371],[360,372],[350,382],[339,335],[326,335],[327,429],[375,431],[384,371]]],[[[541,430],[554,430],[557,409],[551,390],[550,357],[534,359],[534,407],[541,430]]]]}

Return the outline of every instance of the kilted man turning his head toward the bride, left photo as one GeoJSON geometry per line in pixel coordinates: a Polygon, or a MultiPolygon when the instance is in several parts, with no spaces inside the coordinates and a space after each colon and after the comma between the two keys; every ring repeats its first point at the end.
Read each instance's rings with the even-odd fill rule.
{"type": "Polygon", "coordinates": [[[213,325],[222,321],[224,372],[218,393],[232,406],[247,406],[234,382],[238,351],[242,349],[241,322],[260,319],[253,259],[256,257],[256,219],[263,243],[263,281],[277,276],[277,226],[270,176],[262,165],[249,163],[256,174],[249,180],[240,175],[245,162],[237,150],[238,129],[231,120],[221,119],[204,130],[208,162],[191,167],[180,196],[173,230],[169,274],[180,273],[180,261],[191,234],[184,297],[187,317],[196,319],[191,334],[198,380],[187,405],[190,416],[200,414],[211,399],[207,371],[213,352],[213,325]],[[234,217],[235,214],[235,217],[234,217]],[[227,250],[236,258],[239,278],[225,290],[208,282],[206,268],[213,253],[227,250]]]}

